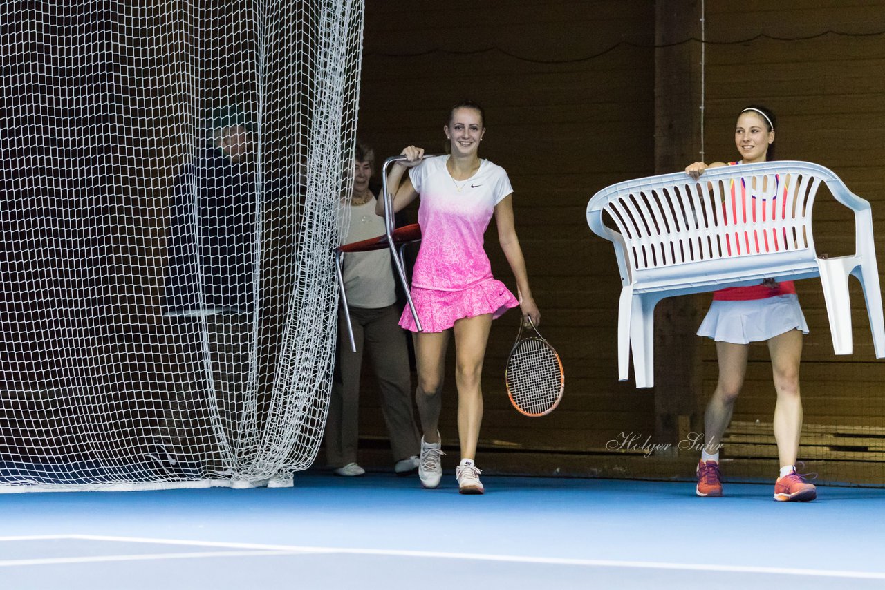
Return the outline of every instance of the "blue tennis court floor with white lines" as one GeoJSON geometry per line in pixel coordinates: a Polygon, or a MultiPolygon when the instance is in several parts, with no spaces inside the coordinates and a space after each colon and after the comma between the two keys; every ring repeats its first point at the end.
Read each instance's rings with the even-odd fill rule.
{"type": "Polygon", "coordinates": [[[370,473],[295,487],[0,497],[0,587],[885,587],[885,490],[370,473]]]}

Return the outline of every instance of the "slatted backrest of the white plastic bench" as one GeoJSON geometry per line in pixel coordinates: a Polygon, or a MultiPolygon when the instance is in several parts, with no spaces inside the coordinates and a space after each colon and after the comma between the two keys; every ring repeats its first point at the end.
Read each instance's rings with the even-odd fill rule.
{"type": "MultiPolygon", "coordinates": [[[[712,168],[699,180],[679,173],[630,180],[597,193],[588,221],[593,226],[591,213],[604,213],[617,228],[623,270],[635,279],[722,258],[804,250],[803,258],[813,259],[814,196],[833,179],[821,166],[784,161],[712,168]]],[[[605,234],[613,239],[611,227],[605,234]]]]}

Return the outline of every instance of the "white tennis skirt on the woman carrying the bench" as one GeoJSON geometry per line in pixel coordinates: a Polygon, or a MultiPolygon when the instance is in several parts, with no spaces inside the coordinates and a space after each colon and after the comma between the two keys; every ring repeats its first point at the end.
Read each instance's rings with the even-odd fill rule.
{"type": "Polygon", "coordinates": [[[790,330],[808,333],[796,294],[750,301],[713,300],[697,335],[717,342],[749,344],[770,340],[790,330]]]}

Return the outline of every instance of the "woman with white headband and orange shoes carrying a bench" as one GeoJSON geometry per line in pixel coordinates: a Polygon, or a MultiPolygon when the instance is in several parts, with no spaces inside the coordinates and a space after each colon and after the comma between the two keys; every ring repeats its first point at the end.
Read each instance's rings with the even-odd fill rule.
{"type": "MultiPolygon", "coordinates": [[[[735,127],[735,146],[741,160],[727,164],[714,162],[711,165],[695,162],[686,167],[685,172],[697,179],[707,168],[773,160],[774,123],[774,113],[763,106],[743,109],[735,127]]],[[[731,203],[723,203],[722,206],[734,208],[736,215],[737,211],[751,209],[744,203],[746,198],[745,187],[738,190],[732,186],[731,203]]],[[[746,238],[750,239],[749,236],[746,238]]],[[[758,240],[758,236],[753,236],[753,239],[758,240]]],[[[748,244],[747,248],[749,247],[748,244]]],[[[766,242],[766,249],[768,247],[766,242]]],[[[732,248],[739,250],[741,243],[736,239],[734,243],[729,241],[727,248],[729,253],[732,248]]],[[[772,248],[776,248],[776,245],[772,245],[772,248]]],[[[704,413],[705,444],[697,465],[697,495],[722,495],[720,441],[731,421],[735,400],[743,387],[750,342],[766,341],[772,359],[774,388],[777,391],[774,439],[777,441],[781,461],[781,472],[774,483],[774,499],[808,502],[817,497],[816,488],[805,481],[795,466],[802,431],[799,362],[804,333],[808,333],[808,326],[792,281],[778,283],[766,280],[761,285],[729,287],[713,294],[710,310],[697,332],[699,336],[707,336],[716,341],[719,360],[719,381],[704,413]]]]}

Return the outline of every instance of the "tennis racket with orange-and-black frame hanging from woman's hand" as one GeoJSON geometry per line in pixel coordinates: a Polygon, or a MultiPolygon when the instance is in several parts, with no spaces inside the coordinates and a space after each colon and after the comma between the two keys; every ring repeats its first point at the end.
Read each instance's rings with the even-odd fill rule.
{"type": "Polygon", "coordinates": [[[519,413],[536,417],[553,411],[566,388],[566,375],[562,361],[550,344],[543,339],[528,318],[533,333],[522,335],[525,321],[519,322],[516,342],[507,357],[504,384],[510,402],[519,413]]]}

